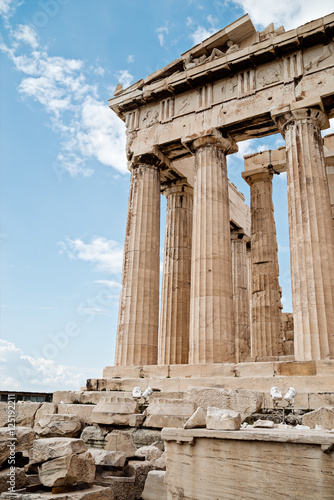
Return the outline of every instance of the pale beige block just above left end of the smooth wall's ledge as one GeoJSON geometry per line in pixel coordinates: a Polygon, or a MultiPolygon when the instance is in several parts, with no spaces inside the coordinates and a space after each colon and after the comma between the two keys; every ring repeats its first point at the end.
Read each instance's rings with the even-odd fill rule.
{"type": "Polygon", "coordinates": [[[194,403],[181,399],[155,399],[146,410],[145,427],[183,427],[194,413],[194,403]]]}

